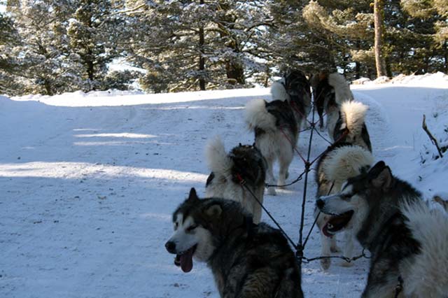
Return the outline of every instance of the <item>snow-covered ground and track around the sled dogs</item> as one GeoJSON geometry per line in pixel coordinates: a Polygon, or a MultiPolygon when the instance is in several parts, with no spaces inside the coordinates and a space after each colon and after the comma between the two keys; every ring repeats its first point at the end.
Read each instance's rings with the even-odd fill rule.
{"type": "MultiPolygon", "coordinates": [[[[422,115],[448,144],[448,77],[442,73],[352,86],[370,106],[367,127],[377,160],[426,197],[447,193],[447,157],[421,129],[422,115]]],[[[228,149],[252,143],[244,105],[269,90],[179,94],[81,92],[0,97],[0,297],[218,297],[211,271],[183,274],[166,252],[171,214],[190,187],[204,194],[204,145],[221,135],[228,149]]],[[[306,153],[309,132],[298,149],[306,153]]],[[[313,138],[312,157],[328,143],[313,138]]],[[[300,158],[290,180],[304,169],[300,158]]],[[[304,234],[316,185],[311,172],[304,234]]],[[[266,196],[295,240],[303,181],[266,196]]],[[[263,220],[270,222],[264,214],[263,220]]],[[[316,230],[304,255],[320,253],[316,230]]],[[[360,249],[358,249],[360,253],[360,249]]],[[[303,264],[307,297],[359,297],[368,262],[328,272],[303,264]]]]}

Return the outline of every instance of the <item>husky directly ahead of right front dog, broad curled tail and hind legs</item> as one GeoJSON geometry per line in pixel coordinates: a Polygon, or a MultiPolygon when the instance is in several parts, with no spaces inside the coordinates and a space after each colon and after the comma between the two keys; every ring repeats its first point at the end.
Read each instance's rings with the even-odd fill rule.
{"type": "MultiPolygon", "coordinates": [[[[316,171],[316,183],[318,185],[318,197],[335,194],[341,190],[342,183],[348,178],[358,176],[372,166],[374,158],[372,154],[360,146],[349,143],[337,143],[331,146],[318,160],[316,171]]],[[[345,244],[344,257],[353,257],[353,239],[359,222],[353,222],[349,216],[332,216],[314,211],[314,217],[318,217],[317,226],[321,232],[321,255],[328,257],[331,252],[339,250],[336,246],[333,229],[344,225],[345,244]]],[[[342,231],[342,229],[341,229],[342,231]]],[[[341,232],[338,230],[338,232],[341,232]]],[[[330,258],[321,259],[321,267],[327,270],[330,267],[330,258]]],[[[351,262],[343,261],[342,266],[349,267],[351,262]]]]}

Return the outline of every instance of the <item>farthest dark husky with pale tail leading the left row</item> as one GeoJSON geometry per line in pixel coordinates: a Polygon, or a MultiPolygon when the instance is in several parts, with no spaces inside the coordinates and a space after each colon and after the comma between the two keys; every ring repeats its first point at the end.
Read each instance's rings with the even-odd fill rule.
{"type": "Polygon", "coordinates": [[[290,71],[280,80],[272,83],[272,99],[288,101],[293,109],[297,129],[304,127],[311,111],[311,90],[307,77],[302,71],[290,71]]]}

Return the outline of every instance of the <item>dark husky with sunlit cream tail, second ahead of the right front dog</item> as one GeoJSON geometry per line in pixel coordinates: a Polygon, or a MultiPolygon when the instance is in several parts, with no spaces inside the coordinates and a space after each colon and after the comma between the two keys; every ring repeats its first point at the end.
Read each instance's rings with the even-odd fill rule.
{"type": "MultiPolygon", "coordinates": [[[[358,145],[372,152],[369,132],[365,125],[365,113],[368,107],[358,101],[346,101],[339,111],[339,118],[335,123],[332,141],[346,142],[358,145]]],[[[330,123],[328,123],[330,129],[330,123]]]]}

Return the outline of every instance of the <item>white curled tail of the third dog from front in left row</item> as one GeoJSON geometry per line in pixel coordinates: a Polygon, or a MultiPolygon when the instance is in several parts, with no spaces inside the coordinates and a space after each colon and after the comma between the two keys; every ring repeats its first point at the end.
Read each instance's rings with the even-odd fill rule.
{"type": "Polygon", "coordinates": [[[249,129],[258,127],[264,130],[274,130],[275,117],[266,109],[264,99],[253,99],[246,104],[246,123],[249,129]]]}

